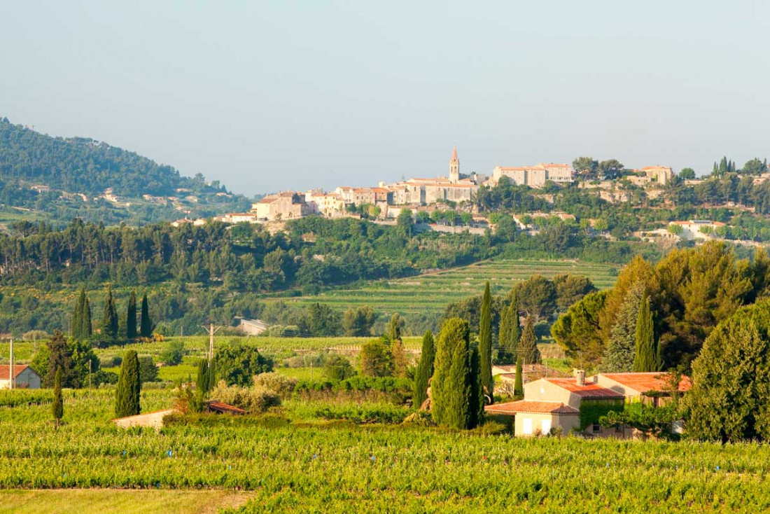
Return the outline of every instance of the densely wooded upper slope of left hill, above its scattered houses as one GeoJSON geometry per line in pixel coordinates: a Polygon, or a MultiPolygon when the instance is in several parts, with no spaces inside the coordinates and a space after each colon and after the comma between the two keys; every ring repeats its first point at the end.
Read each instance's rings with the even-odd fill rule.
{"type": "MultiPolygon", "coordinates": [[[[84,137],[46,136],[8,118],[0,119],[0,176],[86,194],[112,187],[119,195],[166,196],[177,188],[202,193],[207,187],[203,180],[179,176],[172,166],[116,146],[84,137]]],[[[225,192],[219,184],[208,189],[225,192]]]]}

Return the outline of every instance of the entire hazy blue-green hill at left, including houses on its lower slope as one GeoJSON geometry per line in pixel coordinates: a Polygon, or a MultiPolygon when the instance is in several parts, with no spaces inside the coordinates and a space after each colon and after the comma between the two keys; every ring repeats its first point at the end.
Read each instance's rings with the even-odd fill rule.
{"type": "Polygon", "coordinates": [[[113,224],[212,216],[248,207],[200,174],[181,176],[128,150],[52,137],[0,119],[0,220],[81,217],[113,224]]]}

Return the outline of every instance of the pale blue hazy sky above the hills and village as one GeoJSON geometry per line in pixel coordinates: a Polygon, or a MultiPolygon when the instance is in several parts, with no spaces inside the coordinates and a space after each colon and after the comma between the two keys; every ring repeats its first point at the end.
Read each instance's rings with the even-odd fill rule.
{"type": "Polygon", "coordinates": [[[236,193],[765,158],[770,2],[11,2],[0,116],[236,193]]]}

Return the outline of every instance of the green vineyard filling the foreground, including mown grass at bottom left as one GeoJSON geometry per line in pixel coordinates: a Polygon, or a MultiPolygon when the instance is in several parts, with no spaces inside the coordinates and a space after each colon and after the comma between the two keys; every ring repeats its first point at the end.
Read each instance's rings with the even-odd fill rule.
{"type": "MultiPolygon", "coordinates": [[[[111,390],[65,391],[58,431],[50,405],[0,406],[0,512],[770,509],[767,445],[522,439],[323,422],[314,414],[320,404],[296,400],[268,415],[124,431],[109,422],[113,397],[111,390]]],[[[171,397],[145,391],[142,408],[164,408],[171,397]]]]}

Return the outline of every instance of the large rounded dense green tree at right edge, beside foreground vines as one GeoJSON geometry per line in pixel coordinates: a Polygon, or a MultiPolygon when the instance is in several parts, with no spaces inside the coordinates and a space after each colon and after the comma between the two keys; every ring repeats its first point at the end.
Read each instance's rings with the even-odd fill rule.
{"type": "Polygon", "coordinates": [[[688,434],[738,442],[770,440],[770,301],[743,307],[717,325],[692,365],[684,398],[688,434]]]}

